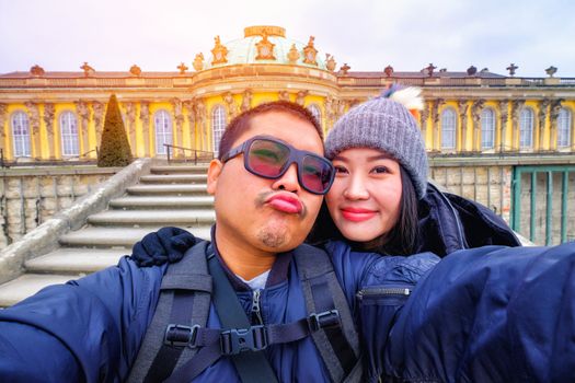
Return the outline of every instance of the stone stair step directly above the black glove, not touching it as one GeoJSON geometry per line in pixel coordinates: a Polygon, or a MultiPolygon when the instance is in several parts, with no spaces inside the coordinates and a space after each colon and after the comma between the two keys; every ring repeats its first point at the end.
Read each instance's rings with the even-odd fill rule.
{"type": "Polygon", "coordinates": [[[191,225],[212,224],[216,213],[211,209],[187,210],[106,210],[88,218],[93,225],[191,225]]]}

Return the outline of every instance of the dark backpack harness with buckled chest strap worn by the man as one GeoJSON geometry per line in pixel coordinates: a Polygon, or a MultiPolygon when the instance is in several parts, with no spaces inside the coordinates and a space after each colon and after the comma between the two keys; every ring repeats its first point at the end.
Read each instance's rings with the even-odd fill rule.
{"type": "MultiPolygon", "coordinates": [[[[238,358],[250,359],[257,353],[263,357],[262,350],[269,345],[307,336],[312,337],[333,382],[359,382],[363,375],[359,339],[329,255],[321,248],[300,245],[294,251],[294,260],[308,317],[289,324],[214,329],[205,327],[214,282],[219,288],[223,283],[229,286],[229,281],[227,277],[221,281],[212,277],[214,272],[210,275],[214,266],[219,265],[211,244],[203,241],[191,247],[182,260],[169,265],[165,271],[153,318],[128,382],[189,382],[220,357],[228,356],[246,383],[252,379],[244,378],[242,365],[252,371],[265,369],[262,364],[269,370],[271,367],[265,358],[251,364],[239,363],[238,358]]],[[[239,305],[235,293],[228,295],[239,305]]]]}

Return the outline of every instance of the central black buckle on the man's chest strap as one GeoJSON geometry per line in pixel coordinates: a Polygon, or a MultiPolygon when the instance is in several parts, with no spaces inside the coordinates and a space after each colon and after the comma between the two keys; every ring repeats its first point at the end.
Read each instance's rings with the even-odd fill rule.
{"type": "Polygon", "coordinates": [[[220,334],[221,353],[237,355],[243,351],[260,351],[267,347],[265,326],[231,328],[220,334]]]}

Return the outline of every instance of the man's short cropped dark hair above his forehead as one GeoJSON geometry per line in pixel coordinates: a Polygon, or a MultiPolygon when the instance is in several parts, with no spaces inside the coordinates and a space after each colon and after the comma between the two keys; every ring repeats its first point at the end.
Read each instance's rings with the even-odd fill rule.
{"type": "Polygon", "coordinates": [[[250,123],[253,117],[271,112],[287,113],[302,120],[309,121],[313,125],[318,135],[323,140],[323,131],[320,127],[320,123],[318,123],[318,119],[315,119],[310,111],[289,101],[274,101],[245,111],[230,121],[226,131],[221,136],[218,159],[221,160],[222,156],[232,149],[238,137],[240,137],[245,130],[250,129],[250,123]]]}

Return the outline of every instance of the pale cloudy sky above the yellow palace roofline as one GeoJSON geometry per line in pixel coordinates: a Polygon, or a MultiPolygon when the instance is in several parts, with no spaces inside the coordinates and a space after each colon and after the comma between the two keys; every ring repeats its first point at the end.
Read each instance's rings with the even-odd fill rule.
{"type": "Polygon", "coordinates": [[[0,73],[176,71],[207,58],[250,25],[278,25],[288,38],[315,36],[321,57],[352,71],[479,70],[575,78],[573,0],[0,0],[0,73]]]}

